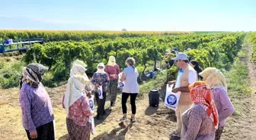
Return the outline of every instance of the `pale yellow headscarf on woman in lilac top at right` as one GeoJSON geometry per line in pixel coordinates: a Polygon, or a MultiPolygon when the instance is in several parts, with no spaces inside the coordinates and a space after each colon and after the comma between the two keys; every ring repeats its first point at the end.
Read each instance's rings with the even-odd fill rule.
{"type": "Polygon", "coordinates": [[[199,75],[205,79],[205,82],[208,86],[210,86],[210,88],[214,88],[215,86],[224,86],[227,91],[225,76],[215,67],[207,67],[205,70],[199,73],[199,75]]]}

